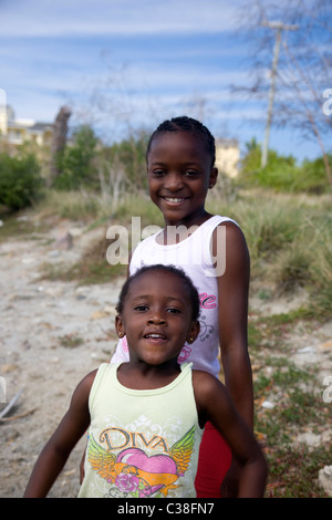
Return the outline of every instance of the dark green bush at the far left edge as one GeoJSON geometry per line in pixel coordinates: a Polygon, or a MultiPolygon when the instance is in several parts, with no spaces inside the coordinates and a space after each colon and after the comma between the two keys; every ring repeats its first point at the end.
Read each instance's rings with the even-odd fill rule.
{"type": "Polygon", "coordinates": [[[40,165],[33,154],[10,157],[0,153],[0,204],[13,210],[31,206],[42,185],[40,165]]]}

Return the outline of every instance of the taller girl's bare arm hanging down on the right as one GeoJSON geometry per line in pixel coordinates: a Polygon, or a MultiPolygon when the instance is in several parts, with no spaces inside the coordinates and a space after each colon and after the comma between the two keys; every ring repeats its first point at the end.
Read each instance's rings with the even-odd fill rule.
{"type": "Polygon", "coordinates": [[[250,258],[242,231],[232,222],[226,228],[226,248],[218,242],[218,228],[212,237],[217,259],[218,321],[225,384],[237,410],[246,423],[253,424],[253,391],[248,355],[248,293],[250,258]],[[222,263],[224,262],[224,263],[222,263]],[[225,272],[220,266],[225,266],[225,272]]]}

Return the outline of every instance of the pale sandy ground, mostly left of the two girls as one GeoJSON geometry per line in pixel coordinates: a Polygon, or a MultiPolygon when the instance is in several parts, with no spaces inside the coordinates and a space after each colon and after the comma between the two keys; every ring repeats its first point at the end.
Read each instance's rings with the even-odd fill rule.
{"type": "MultiPolygon", "coordinates": [[[[33,464],[65,413],[74,387],[110,360],[116,344],[114,306],[123,280],[89,287],[39,280],[42,262],[74,261],[92,239],[82,229],[70,231],[74,237],[70,249],[56,241],[63,225],[39,239],[0,243],[0,414],[20,392],[14,407],[0,420],[1,498],[22,497],[33,464]]],[[[261,309],[261,301],[252,301],[267,313],[286,312],[287,305],[297,304],[277,301],[261,309]]],[[[313,336],[294,331],[293,341],[299,364],[321,356],[322,376],[332,375],[331,363],[326,365],[331,355],[324,351],[332,347],[331,323],[313,336]]],[[[84,445],[82,439],[50,497],[76,496],[84,445]]]]}

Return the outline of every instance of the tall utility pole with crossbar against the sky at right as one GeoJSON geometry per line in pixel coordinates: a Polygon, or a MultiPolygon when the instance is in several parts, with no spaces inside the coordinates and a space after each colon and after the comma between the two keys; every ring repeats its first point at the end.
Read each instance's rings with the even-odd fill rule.
{"type": "Polygon", "coordinates": [[[263,146],[261,149],[261,167],[263,168],[264,166],[267,166],[267,163],[268,163],[268,148],[269,148],[269,138],[270,138],[270,127],[271,127],[272,116],[273,116],[276,77],[277,77],[277,69],[278,69],[278,61],[279,61],[281,33],[282,31],[295,31],[297,29],[299,29],[299,25],[286,25],[282,22],[268,22],[267,20],[263,20],[261,24],[264,27],[269,27],[270,29],[274,29],[277,31],[274,50],[273,50],[273,61],[272,61],[272,67],[271,67],[271,85],[270,85],[270,93],[269,93],[268,118],[267,118],[267,125],[266,125],[264,142],[263,142],[263,146]]]}

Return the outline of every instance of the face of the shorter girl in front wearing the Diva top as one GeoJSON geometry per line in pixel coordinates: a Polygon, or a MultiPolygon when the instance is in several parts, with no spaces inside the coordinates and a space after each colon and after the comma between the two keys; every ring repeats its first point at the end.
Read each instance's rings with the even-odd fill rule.
{"type": "Polygon", "coordinates": [[[131,362],[176,363],[186,341],[194,341],[199,323],[193,320],[189,291],[174,273],[143,273],[133,280],[116,330],[126,334],[131,362]]]}

